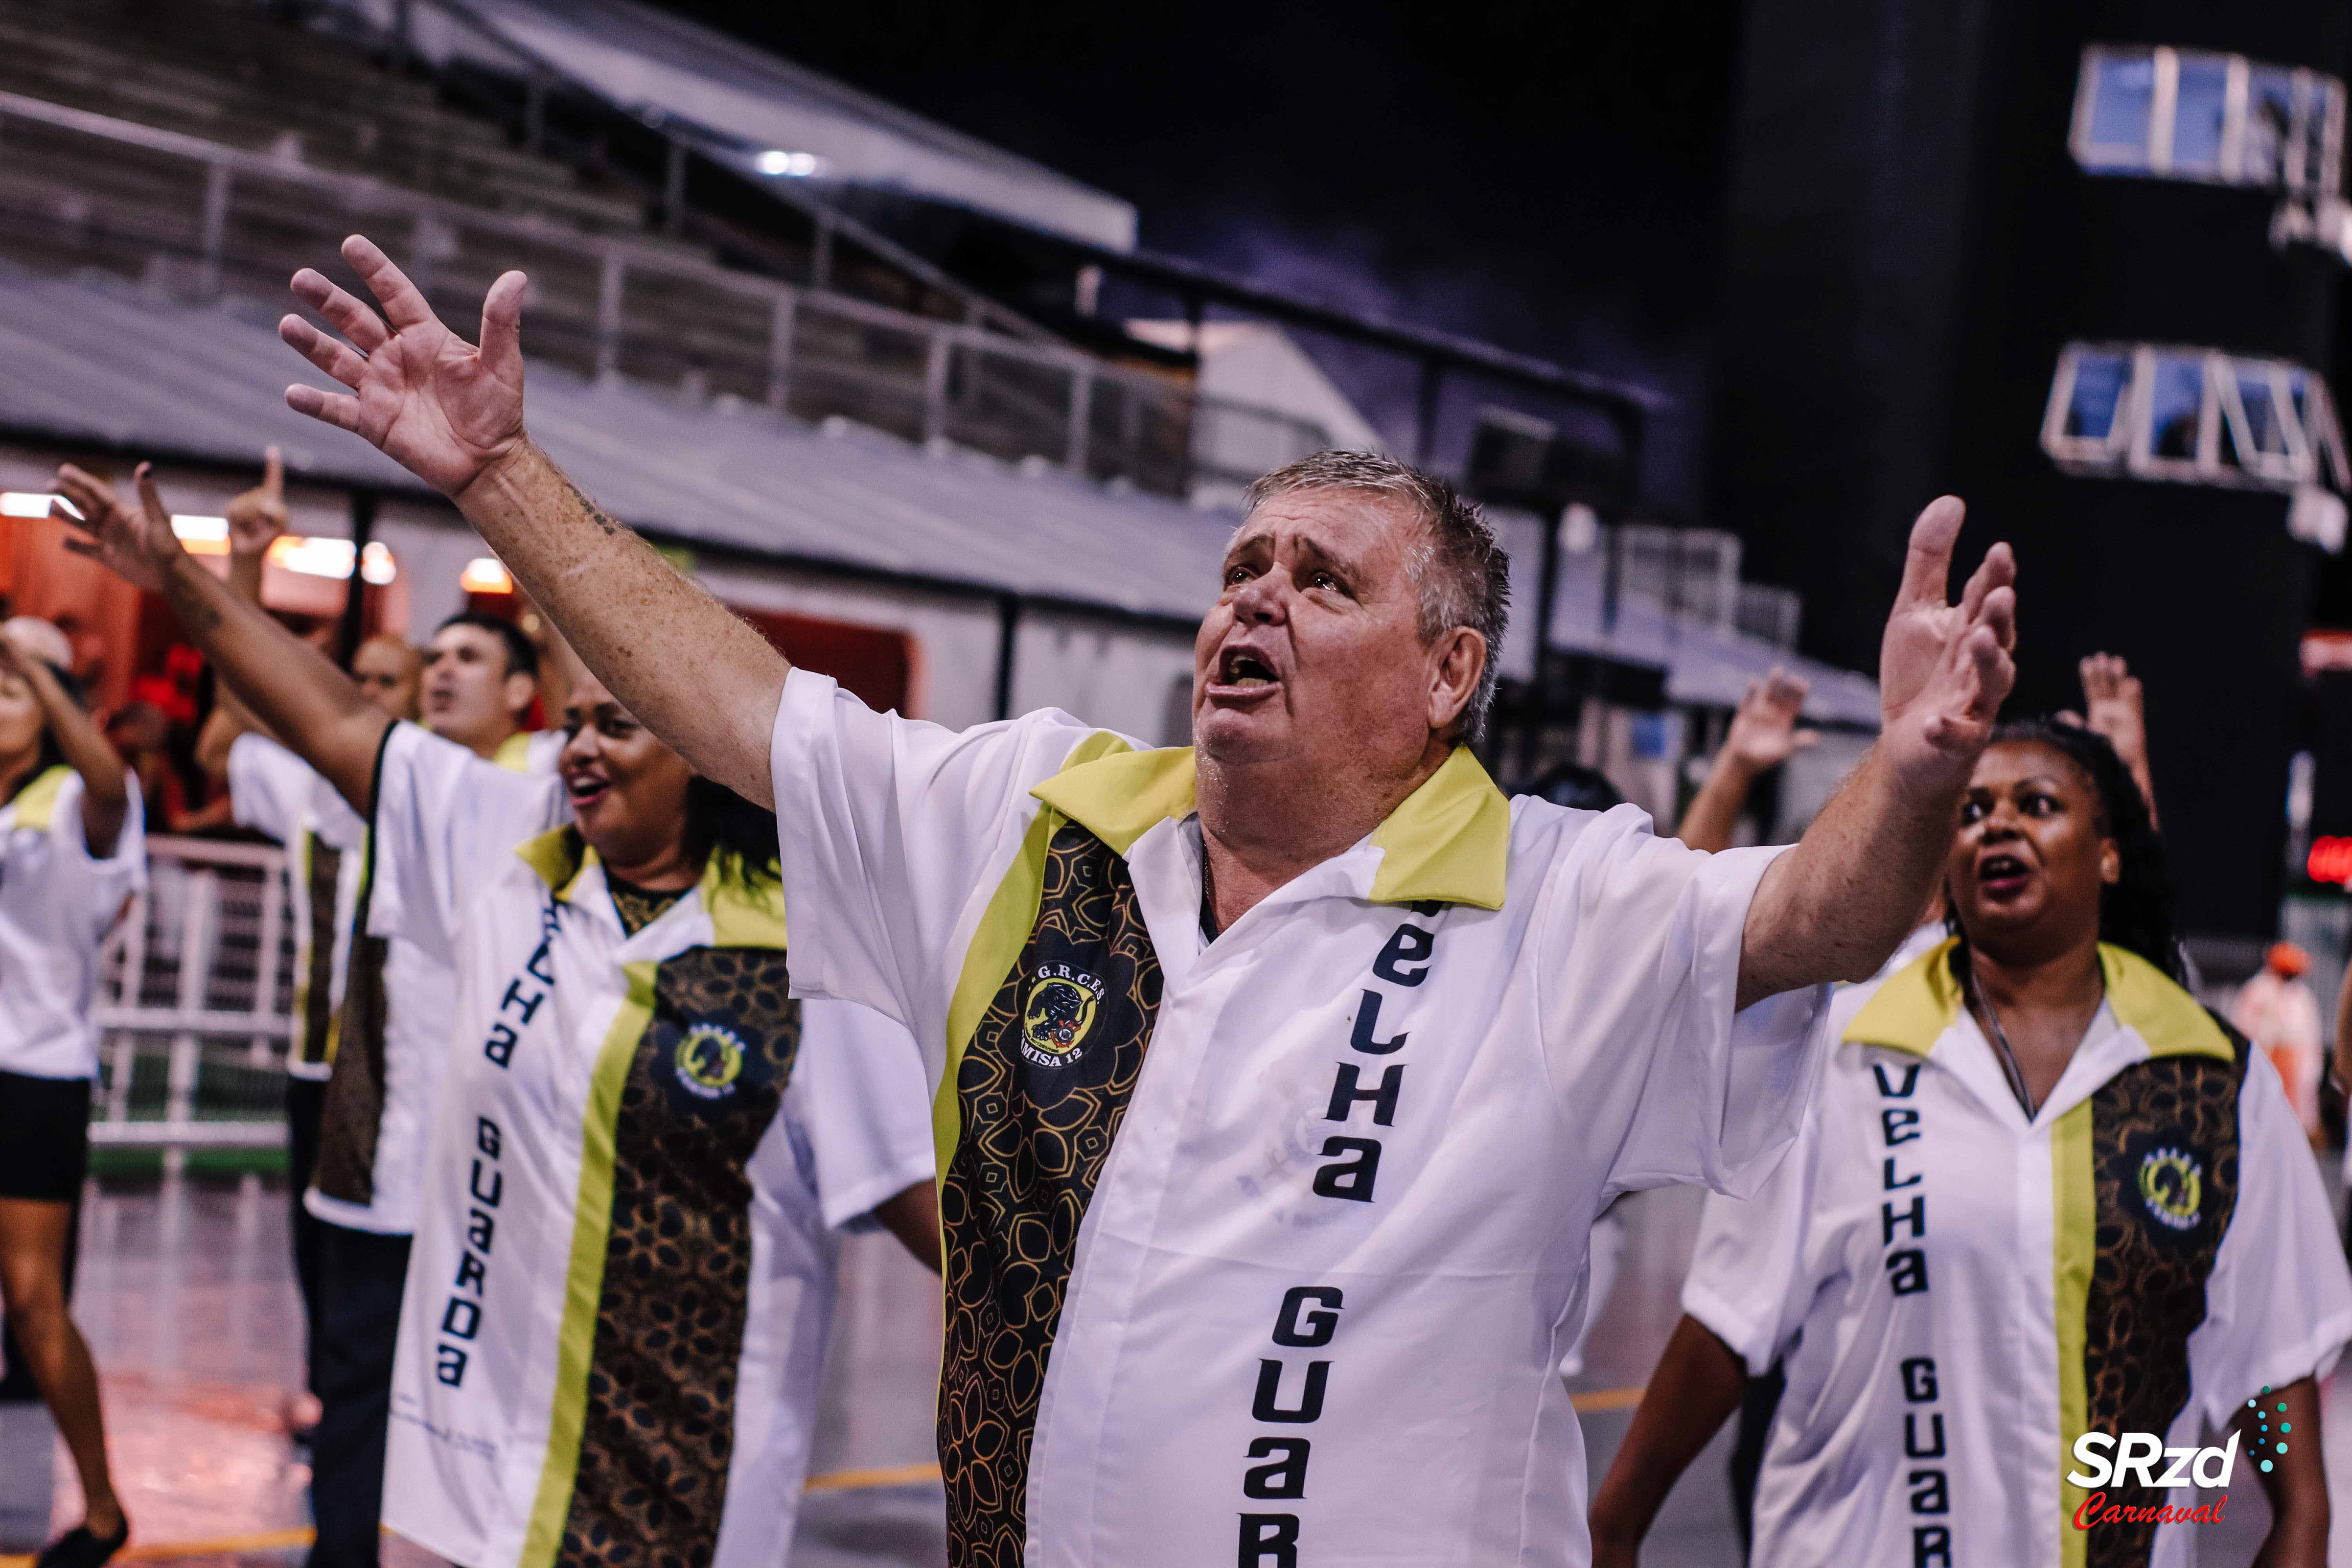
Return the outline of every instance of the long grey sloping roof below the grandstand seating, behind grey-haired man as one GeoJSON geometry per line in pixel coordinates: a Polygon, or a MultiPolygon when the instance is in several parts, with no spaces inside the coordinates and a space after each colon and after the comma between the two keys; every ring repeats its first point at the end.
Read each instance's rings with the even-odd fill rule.
{"type": "MultiPolygon", "coordinates": [[[[416,494],[360,437],[285,407],[289,381],[322,378],[278,341],[275,320],[252,303],[183,306],[0,266],[0,440],[216,463],[252,463],[275,442],[296,477],[416,494]]],[[[1214,599],[1235,524],[1054,468],[856,428],[826,435],[543,362],[529,376],[532,435],[588,494],[633,527],[710,550],[1185,623],[1214,599]]],[[[1536,607],[1534,536],[1531,522],[1505,529],[1522,623],[1536,607]]],[[[1748,679],[1788,665],[1813,682],[1811,719],[1877,726],[1870,679],[1639,595],[1623,595],[1604,632],[1597,555],[1562,557],[1552,642],[1665,668],[1679,703],[1738,703],[1748,679]]],[[[1515,663],[1524,651],[1505,656],[1505,670],[1515,663]]]]}

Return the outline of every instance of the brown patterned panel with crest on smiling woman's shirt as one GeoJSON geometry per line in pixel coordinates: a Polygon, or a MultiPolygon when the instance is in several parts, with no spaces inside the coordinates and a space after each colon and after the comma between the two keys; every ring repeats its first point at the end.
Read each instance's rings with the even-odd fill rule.
{"type": "Polygon", "coordinates": [[[750,1157],[800,1053],[786,954],[661,964],[614,1126],[612,1239],[557,1563],[706,1568],[750,1307],[750,1157]]]}

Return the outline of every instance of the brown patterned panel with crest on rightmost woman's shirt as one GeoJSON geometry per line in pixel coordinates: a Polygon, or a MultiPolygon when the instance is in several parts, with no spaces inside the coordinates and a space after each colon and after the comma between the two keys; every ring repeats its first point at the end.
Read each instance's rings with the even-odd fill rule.
{"type": "MultiPolygon", "coordinates": [[[[2227,1032],[2230,1063],[2164,1056],[2091,1095],[2098,1251],[2082,1354],[2091,1432],[2169,1432],[2187,1406],[2190,1333],[2204,1324],[2206,1279],[2237,1211],[2246,1039],[2227,1032]]],[[[2138,1486],[2107,1493],[2129,1509],[2166,1502],[2138,1486]]],[[[2145,1568],[2154,1540],[2154,1523],[2103,1523],[2084,1537],[2084,1563],[2145,1568]]]]}

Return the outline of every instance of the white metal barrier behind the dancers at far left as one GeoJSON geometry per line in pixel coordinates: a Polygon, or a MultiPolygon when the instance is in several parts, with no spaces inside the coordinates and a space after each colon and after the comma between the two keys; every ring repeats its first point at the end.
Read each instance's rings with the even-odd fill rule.
{"type": "Polygon", "coordinates": [[[96,1020],[92,1143],[282,1145],[294,1032],[285,851],[148,839],[148,886],[106,940],[96,1020]]]}

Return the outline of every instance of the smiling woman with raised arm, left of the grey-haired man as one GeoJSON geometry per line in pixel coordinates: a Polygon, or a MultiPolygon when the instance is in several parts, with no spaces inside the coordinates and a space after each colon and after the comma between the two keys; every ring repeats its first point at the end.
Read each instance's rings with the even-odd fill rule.
{"type": "MultiPolygon", "coordinates": [[[[776,818],[595,679],[567,696],[553,778],[393,722],[181,552],[146,468],[136,510],[78,470],[59,482],[89,552],[165,592],[369,820],[355,929],[456,973],[383,1523],[466,1568],[774,1568],[835,1232],[870,1213],[938,1267],[915,1041],[788,999],[776,818]]],[[[343,1039],[381,1006],[369,973],[353,964],[343,1039]]],[[[325,1117],[372,1110],[329,1093],[325,1117]]]]}

